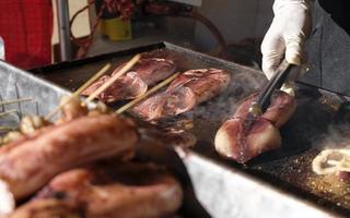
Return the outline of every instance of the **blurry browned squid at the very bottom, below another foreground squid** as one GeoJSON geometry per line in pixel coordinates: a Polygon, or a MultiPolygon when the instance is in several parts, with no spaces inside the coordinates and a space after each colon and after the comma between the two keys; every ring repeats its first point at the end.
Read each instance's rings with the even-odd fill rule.
{"type": "Polygon", "coordinates": [[[176,213],[182,205],[183,191],[171,174],[152,164],[108,162],[57,175],[32,203],[10,217],[25,211],[30,215],[33,210],[46,210],[51,217],[47,207],[36,206],[37,201],[57,201],[56,208],[61,208],[63,217],[80,211],[88,218],[159,218],[176,213]]]}

